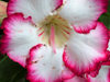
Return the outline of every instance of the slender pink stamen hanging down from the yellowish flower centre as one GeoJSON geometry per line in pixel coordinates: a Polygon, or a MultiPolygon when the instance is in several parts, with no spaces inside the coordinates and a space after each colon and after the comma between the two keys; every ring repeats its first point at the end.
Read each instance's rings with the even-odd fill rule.
{"type": "Polygon", "coordinates": [[[56,54],[56,46],[55,46],[55,28],[54,28],[54,26],[51,27],[50,42],[51,42],[51,46],[53,47],[54,54],[56,54]]]}

